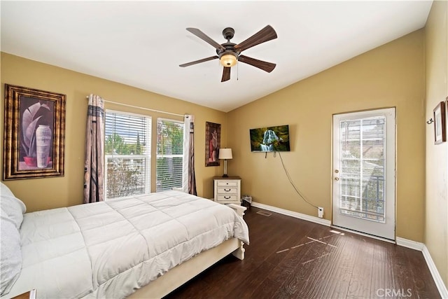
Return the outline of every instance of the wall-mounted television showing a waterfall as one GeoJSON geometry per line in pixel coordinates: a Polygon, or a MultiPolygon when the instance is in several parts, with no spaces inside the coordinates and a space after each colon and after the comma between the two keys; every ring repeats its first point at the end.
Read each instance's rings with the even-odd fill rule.
{"type": "Polygon", "coordinates": [[[289,125],[250,129],[251,151],[290,151],[289,125]]]}

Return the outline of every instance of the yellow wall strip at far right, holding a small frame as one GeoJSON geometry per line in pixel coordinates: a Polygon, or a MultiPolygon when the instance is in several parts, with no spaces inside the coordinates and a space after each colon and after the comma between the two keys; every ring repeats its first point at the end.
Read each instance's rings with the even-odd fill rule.
{"type": "MultiPolygon", "coordinates": [[[[434,1],[426,23],[426,118],[448,96],[448,4],[434,1]]],[[[448,144],[434,144],[434,127],[426,126],[425,244],[448,286],[448,144]]]]}

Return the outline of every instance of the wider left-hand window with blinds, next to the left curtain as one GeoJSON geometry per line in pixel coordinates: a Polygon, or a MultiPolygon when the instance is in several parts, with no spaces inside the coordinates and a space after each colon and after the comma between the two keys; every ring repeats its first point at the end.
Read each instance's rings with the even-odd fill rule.
{"type": "Polygon", "coordinates": [[[151,192],[151,117],[106,111],[106,200],[151,192]]]}

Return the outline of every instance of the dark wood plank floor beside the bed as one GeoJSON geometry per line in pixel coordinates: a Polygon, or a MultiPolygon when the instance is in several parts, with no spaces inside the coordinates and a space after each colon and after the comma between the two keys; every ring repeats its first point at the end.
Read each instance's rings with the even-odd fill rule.
{"type": "Polygon", "coordinates": [[[228,256],[165,299],[440,298],[420,251],[258,211],[244,216],[244,260],[228,256]]]}

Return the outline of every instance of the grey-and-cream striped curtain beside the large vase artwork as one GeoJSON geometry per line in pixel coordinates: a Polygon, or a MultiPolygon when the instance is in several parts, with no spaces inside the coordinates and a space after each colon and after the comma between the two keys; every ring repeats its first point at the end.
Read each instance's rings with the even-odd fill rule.
{"type": "Polygon", "coordinates": [[[84,203],[104,200],[104,100],[89,95],[84,165],[84,203]]]}

